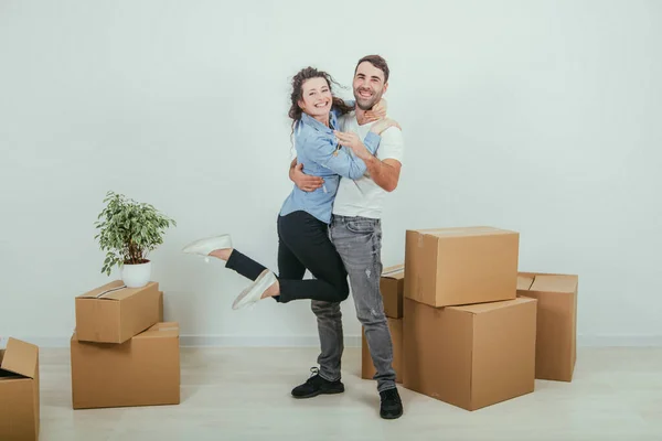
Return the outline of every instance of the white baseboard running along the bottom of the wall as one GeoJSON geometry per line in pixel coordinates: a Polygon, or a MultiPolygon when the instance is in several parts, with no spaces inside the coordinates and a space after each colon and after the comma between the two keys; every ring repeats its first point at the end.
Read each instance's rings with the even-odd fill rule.
{"type": "MultiPolygon", "coordinates": [[[[21,337],[39,347],[68,347],[68,337],[21,337]]],[[[2,338],[7,342],[7,337],[2,338]]],[[[241,336],[241,335],[182,335],[181,346],[193,347],[319,347],[317,335],[241,336]]],[[[361,347],[360,335],[346,335],[345,347],[361,347]]],[[[0,344],[0,347],[3,345],[0,344]]],[[[578,335],[579,347],[662,347],[662,335],[578,335]]]]}

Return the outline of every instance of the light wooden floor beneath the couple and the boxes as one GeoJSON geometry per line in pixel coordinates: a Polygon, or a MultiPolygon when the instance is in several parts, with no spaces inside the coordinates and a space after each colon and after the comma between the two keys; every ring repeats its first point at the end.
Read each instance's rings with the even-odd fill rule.
{"type": "Polygon", "coordinates": [[[474,412],[401,388],[405,415],[380,419],[372,380],[346,348],[346,391],[296,400],[311,348],[182,349],[182,404],[72,410],[67,349],[41,349],[41,440],[662,440],[662,348],[583,348],[572,384],[474,412]]]}

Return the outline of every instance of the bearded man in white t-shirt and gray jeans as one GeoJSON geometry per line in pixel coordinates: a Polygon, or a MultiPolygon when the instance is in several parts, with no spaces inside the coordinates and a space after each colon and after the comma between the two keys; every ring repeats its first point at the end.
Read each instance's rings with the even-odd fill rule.
{"type": "MultiPolygon", "coordinates": [[[[388,88],[389,69],[378,55],[369,55],[359,61],[354,71],[353,92],[356,100],[354,112],[340,119],[340,143],[352,139],[364,139],[372,122],[366,111],[380,101],[388,88]]],[[[341,179],[333,204],[330,235],[350,276],[356,315],[364,327],[376,369],[377,391],[381,396],[380,415],[385,419],[399,418],[402,400],[395,384],[393,369],[393,344],[384,314],[380,292],[382,275],[382,207],[387,192],[397,186],[403,160],[404,142],[401,130],[392,127],[382,133],[376,157],[365,150],[359,157],[366,163],[367,172],[357,180],[341,179]]],[[[321,179],[306,175],[292,162],[290,179],[301,190],[312,191],[321,185],[321,179]]],[[[340,303],[312,301],[312,311],[318,319],[321,354],[319,369],[303,385],[296,387],[292,395],[309,398],[320,394],[337,394],[344,390],[341,377],[343,333],[340,303]]]]}

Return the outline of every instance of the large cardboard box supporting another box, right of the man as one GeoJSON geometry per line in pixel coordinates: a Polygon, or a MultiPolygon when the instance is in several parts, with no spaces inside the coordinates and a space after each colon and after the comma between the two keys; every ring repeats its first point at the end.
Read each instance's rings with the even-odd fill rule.
{"type": "Polygon", "coordinates": [[[532,392],[536,302],[433,308],[405,299],[403,386],[467,410],[532,392]]]}

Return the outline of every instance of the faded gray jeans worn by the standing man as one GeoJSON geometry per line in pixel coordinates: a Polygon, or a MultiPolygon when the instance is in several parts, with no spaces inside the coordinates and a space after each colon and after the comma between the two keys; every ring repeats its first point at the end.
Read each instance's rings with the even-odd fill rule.
{"type": "MultiPolygon", "coordinates": [[[[333,216],[329,234],[350,276],[356,316],[363,325],[377,372],[374,376],[377,390],[394,388],[396,375],[393,369],[393,343],[380,292],[381,222],[366,217],[333,216]]],[[[313,300],[312,312],[317,315],[320,334],[320,376],[330,381],[340,379],[344,348],[340,303],[313,300]]]]}

